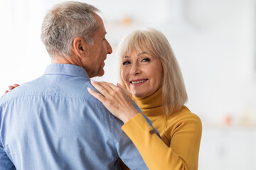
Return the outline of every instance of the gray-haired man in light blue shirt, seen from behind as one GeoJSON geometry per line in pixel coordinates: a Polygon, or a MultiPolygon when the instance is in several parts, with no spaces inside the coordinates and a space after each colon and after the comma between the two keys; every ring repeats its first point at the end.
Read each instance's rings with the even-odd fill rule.
{"type": "Polygon", "coordinates": [[[0,169],[120,169],[119,157],[147,169],[121,121],[87,92],[112,53],[97,12],[69,1],[44,18],[52,64],[0,100],[0,169]]]}

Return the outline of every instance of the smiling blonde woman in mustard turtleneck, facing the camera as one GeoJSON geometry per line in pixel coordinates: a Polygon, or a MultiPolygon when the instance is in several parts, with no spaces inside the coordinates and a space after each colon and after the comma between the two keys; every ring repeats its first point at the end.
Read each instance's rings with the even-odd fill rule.
{"type": "Polygon", "coordinates": [[[122,120],[122,130],[134,142],[149,169],[198,169],[201,120],[184,106],[186,89],[166,37],[152,28],[135,30],[122,40],[118,49],[125,88],[92,81],[100,94],[88,91],[122,120]],[[131,96],[162,140],[134,108],[131,96]]]}

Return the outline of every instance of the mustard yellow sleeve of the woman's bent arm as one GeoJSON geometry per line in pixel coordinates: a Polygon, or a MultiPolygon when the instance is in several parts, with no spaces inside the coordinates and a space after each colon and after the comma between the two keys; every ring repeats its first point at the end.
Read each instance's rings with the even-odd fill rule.
{"type": "MultiPolygon", "coordinates": [[[[191,114],[193,115],[193,114],[191,114]]],[[[144,162],[154,169],[197,169],[201,141],[201,120],[196,115],[182,118],[175,127],[169,127],[171,145],[167,146],[154,133],[142,114],[137,114],[122,126],[122,130],[134,142],[144,162]]]]}

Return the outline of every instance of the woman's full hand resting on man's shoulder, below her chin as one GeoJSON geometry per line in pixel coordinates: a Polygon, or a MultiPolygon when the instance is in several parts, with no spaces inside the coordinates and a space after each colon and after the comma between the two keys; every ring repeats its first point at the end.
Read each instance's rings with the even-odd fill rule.
{"type": "Polygon", "coordinates": [[[129,96],[127,90],[117,84],[110,84],[107,82],[91,81],[92,86],[100,92],[87,88],[89,93],[103,103],[103,105],[114,116],[127,123],[134,115],[139,113],[132,103],[132,98],[129,96]]]}

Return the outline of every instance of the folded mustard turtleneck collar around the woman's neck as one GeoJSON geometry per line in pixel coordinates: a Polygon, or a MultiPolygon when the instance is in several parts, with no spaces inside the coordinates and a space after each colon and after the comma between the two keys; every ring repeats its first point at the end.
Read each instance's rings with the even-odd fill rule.
{"type": "Polygon", "coordinates": [[[159,108],[162,106],[162,89],[158,89],[154,94],[148,96],[146,98],[137,98],[132,95],[135,103],[139,106],[139,108],[149,109],[149,108],[159,108]]]}

